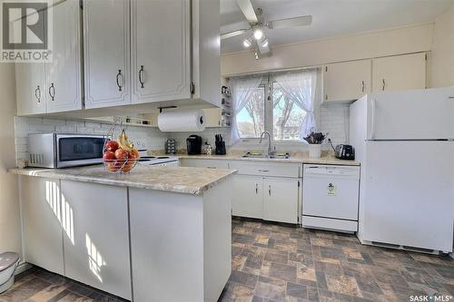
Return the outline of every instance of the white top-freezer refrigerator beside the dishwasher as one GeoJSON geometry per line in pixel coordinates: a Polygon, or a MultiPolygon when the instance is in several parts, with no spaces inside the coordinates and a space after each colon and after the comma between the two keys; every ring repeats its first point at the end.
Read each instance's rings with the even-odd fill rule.
{"type": "Polygon", "coordinates": [[[372,93],[350,105],[362,243],[452,252],[454,86],[372,93]]]}

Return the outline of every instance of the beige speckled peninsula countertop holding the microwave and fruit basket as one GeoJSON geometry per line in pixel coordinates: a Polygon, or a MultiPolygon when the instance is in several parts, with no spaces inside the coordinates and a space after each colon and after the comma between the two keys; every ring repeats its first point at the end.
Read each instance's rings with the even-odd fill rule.
{"type": "Polygon", "coordinates": [[[104,165],[65,169],[25,168],[12,169],[10,172],[49,179],[75,180],[111,186],[201,195],[218,181],[234,174],[236,170],[153,167],[139,163],[128,174],[108,172],[104,165]]]}

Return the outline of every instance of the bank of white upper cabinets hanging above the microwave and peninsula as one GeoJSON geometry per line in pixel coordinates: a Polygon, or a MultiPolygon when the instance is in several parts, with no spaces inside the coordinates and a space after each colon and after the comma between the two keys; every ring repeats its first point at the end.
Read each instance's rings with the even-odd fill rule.
{"type": "Polygon", "coordinates": [[[82,5],[66,0],[53,6],[52,63],[17,63],[19,115],[138,103],[149,103],[147,110],[220,106],[219,0],[82,5]]]}

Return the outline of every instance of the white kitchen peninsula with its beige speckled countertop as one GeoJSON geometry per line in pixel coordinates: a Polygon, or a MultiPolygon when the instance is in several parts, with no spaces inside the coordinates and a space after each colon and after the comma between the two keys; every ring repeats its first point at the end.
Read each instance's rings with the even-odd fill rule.
{"type": "Polygon", "coordinates": [[[134,301],[215,301],[231,274],[234,170],[15,169],[25,261],[134,301]]]}

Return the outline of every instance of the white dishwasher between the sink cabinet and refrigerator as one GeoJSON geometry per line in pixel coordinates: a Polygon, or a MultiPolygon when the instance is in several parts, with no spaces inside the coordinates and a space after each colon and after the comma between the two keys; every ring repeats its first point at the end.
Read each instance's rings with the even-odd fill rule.
{"type": "Polygon", "coordinates": [[[358,230],[360,167],[305,164],[302,227],[358,230]]]}

